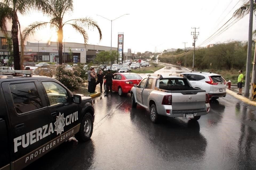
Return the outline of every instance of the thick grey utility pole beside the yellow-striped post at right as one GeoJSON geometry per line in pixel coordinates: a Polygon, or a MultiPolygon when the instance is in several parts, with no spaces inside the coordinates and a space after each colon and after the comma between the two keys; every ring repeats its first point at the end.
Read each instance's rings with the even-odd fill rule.
{"type": "MultiPolygon", "coordinates": [[[[247,62],[246,62],[246,77],[245,77],[245,97],[249,97],[250,88],[250,73],[251,73],[251,45],[253,35],[253,0],[250,0],[250,19],[249,19],[249,34],[248,34],[248,48],[247,48],[247,62]]],[[[252,82],[253,83],[253,82],[252,82]]]]}

